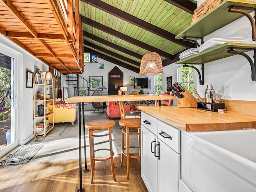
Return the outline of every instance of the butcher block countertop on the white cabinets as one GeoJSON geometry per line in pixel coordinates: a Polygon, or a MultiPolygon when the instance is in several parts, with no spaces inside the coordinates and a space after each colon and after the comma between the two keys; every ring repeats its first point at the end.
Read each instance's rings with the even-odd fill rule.
{"type": "Polygon", "coordinates": [[[232,111],[218,113],[177,106],[140,106],[140,110],[187,132],[256,128],[256,116],[232,111]]]}

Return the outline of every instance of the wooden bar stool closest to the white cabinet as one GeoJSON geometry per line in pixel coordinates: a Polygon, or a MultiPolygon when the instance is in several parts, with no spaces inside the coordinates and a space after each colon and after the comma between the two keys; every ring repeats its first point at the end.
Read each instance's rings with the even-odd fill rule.
{"type": "Polygon", "coordinates": [[[126,156],[126,170],[127,180],[129,179],[129,170],[130,170],[130,158],[140,158],[140,118],[128,118],[119,120],[119,125],[122,127],[122,154],[121,154],[121,166],[123,164],[124,156],[126,156]],[[137,130],[137,132],[130,132],[130,130],[137,130]],[[126,148],[124,148],[124,135],[126,134],[126,148]],[[130,146],[129,136],[138,135],[139,145],[130,146]],[[130,148],[137,148],[139,150],[139,156],[132,156],[130,154],[130,148]],[[126,153],[125,153],[126,150],[126,153]]]}

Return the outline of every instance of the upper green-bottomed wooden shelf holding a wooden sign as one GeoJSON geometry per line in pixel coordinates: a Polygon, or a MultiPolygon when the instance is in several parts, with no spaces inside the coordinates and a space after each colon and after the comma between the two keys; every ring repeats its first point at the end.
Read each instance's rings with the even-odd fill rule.
{"type": "MultiPolygon", "coordinates": [[[[187,29],[178,34],[175,38],[182,39],[184,37],[202,38],[231,22],[244,16],[239,13],[228,12],[228,6],[256,7],[256,2],[246,0],[224,0],[216,6],[208,14],[194,22],[187,29]]],[[[252,12],[253,10],[244,10],[252,12]]]]}

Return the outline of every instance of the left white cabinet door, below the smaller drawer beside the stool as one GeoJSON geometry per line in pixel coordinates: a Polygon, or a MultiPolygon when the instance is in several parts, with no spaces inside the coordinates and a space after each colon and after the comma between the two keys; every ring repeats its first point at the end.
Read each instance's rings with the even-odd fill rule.
{"type": "Polygon", "coordinates": [[[141,177],[149,192],[157,190],[157,158],[152,153],[155,144],[156,136],[141,125],[141,177]]]}

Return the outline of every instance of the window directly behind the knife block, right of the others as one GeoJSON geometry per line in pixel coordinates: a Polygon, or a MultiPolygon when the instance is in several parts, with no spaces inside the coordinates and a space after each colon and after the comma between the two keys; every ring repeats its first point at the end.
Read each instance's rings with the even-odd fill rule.
{"type": "Polygon", "coordinates": [[[177,68],[177,77],[180,85],[189,90],[190,93],[194,93],[194,69],[190,67],[180,66],[177,68]]]}

